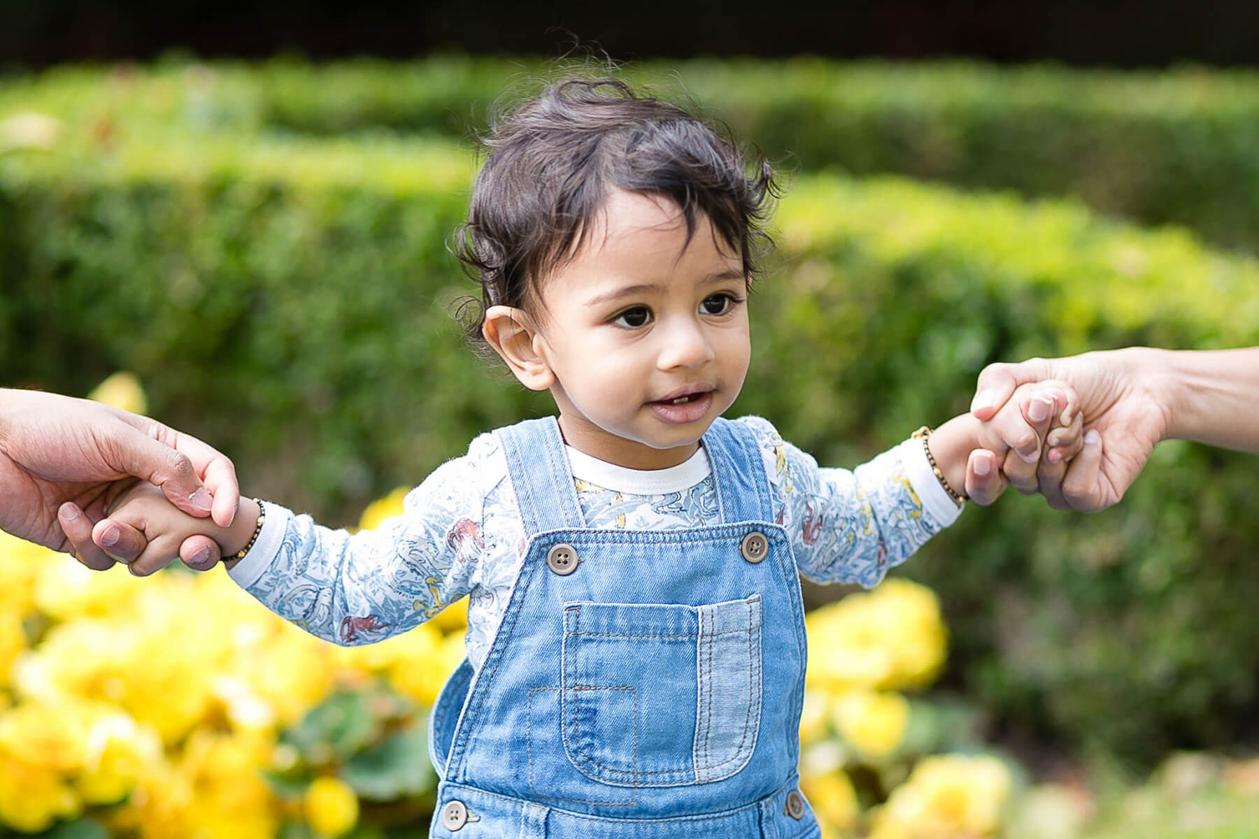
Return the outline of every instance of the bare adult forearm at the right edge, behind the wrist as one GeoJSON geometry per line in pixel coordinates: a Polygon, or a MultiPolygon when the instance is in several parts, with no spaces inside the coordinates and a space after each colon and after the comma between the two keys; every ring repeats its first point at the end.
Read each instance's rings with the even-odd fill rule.
{"type": "Polygon", "coordinates": [[[1168,438],[1259,452],[1259,347],[1155,352],[1168,438]]]}

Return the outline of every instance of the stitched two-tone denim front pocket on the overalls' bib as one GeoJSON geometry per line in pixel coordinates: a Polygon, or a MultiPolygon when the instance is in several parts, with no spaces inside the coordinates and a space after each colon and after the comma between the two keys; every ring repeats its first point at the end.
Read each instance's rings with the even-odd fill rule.
{"type": "Polygon", "coordinates": [[[618,786],[708,784],[742,770],[760,722],[760,596],[701,606],[564,609],[569,761],[618,786]]]}

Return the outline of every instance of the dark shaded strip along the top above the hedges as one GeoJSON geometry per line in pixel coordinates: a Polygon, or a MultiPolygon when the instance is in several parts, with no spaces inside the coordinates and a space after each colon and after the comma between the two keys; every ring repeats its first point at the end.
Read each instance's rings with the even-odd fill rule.
{"type": "Polygon", "coordinates": [[[1259,4],[1229,0],[997,0],[767,5],[451,1],[88,3],[10,0],[0,62],[204,57],[408,58],[434,49],[553,55],[579,39],[614,58],[703,54],[971,55],[995,62],[1162,67],[1259,64],[1259,4]]]}

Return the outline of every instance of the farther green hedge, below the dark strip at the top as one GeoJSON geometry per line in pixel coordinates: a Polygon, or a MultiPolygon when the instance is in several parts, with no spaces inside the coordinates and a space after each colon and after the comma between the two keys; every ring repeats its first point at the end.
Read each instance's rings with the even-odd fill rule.
{"type": "MultiPolygon", "coordinates": [[[[0,84],[0,118],[34,108],[87,132],[437,132],[466,140],[560,67],[441,55],[324,67],[277,59],[63,68],[0,84]]],[[[572,67],[584,72],[598,65],[572,67]]],[[[976,63],[691,60],[630,78],[690,97],[788,167],[898,172],[1175,221],[1259,250],[1259,74],[976,63]]]]}

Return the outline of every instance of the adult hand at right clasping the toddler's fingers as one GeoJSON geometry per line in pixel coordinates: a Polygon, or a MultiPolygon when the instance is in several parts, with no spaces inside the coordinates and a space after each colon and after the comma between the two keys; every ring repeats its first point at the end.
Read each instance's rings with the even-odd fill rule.
{"type": "Polygon", "coordinates": [[[1084,448],[1066,464],[1050,462],[1007,468],[1021,492],[1039,491],[1058,509],[1094,512],[1121,498],[1141,473],[1151,452],[1168,436],[1168,405],[1155,385],[1158,365],[1143,348],[1087,352],[1065,358],[1031,358],[1021,364],[993,364],[980,374],[971,410],[978,419],[992,416],[1015,387],[1059,379],[1079,394],[1084,415],[1084,448]]]}

